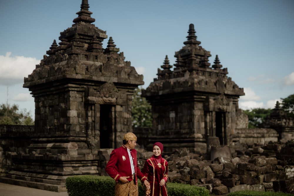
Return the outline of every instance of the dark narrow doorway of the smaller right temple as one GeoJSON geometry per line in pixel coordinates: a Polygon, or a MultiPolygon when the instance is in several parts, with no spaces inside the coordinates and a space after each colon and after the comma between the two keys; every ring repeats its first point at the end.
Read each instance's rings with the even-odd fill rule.
{"type": "Polygon", "coordinates": [[[220,145],[227,144],[225,125],[225,112],[216,112],[216,137],[220,139],[220,145]]]}

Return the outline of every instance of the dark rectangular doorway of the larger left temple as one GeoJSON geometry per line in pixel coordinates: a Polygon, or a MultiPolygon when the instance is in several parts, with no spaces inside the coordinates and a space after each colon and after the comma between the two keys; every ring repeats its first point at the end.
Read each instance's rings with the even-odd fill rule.
{"type": "Polygon", "coordinates": [[[112,105],[100,105],[100,148],[111,147],[112,105]]]}

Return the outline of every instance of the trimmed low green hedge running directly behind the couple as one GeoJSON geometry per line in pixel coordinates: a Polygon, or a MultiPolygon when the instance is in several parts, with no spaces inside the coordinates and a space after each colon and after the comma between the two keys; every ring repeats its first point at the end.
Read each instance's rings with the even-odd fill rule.
{"type": "MultiPolygon", "coordinates": [[[[71,176],[66,178],[66,189],[69,196],[113,196],[115,181],[109,176],[71,176]]],[[[138,181],[139,196],[145,191],[138,181]]],[[[205,187],[167,183],[169,196],[209,196],[205,187]]]]}

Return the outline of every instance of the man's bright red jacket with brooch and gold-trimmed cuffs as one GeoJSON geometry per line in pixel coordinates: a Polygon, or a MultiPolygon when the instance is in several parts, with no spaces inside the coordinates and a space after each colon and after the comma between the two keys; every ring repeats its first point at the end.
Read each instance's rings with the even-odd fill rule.
{"type": "MultiPolygon", "coordinates": [[[[133,163],[135,166],[135,179],[136,184],[138,182],[137,177],[144,182],[146,180],[144,178],[143,173],[140,171],[137,164],[137,151],[135,149],[131,150],[131,155],[133,157],[133,163]]],[[[128,181],[132,179],[132,169],[130,164],[130,158],[128,155],[128,150],[126,146],[121,146],[112,150],[110,154],[110,159],[106,164],[105,171],[108,173],[110,177],[112,177],[116,182],[118,182],[121,176],[129,176],[128,181]]]]}

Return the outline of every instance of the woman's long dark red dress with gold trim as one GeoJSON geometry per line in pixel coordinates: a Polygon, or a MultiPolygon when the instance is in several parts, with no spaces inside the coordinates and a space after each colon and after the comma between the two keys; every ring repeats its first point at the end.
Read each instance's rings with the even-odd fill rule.
{"type": "Polygon", "coordinates": [[[151,158],[147,159],[144,164],[143,174],[150,182],[150,196],[159,196],[160,190],[162,191],[162,196],[167,196],[166,184],[164,186],[159,185],[161,179],[164,179],[166,182],[168,180],[167,161],[164,158],[160,157],[160,164],[161,167],[157,165],[156,156],[154,155],[151,158]]]}

